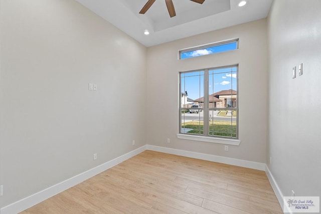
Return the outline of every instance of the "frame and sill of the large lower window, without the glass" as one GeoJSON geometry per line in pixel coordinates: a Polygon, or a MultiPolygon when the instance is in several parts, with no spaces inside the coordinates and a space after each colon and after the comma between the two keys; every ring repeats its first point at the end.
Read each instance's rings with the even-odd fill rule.
{"type": "MultiPolygon", "coordinates": [[[[238,100],[239,100],[239,90],[238,90],[238,73],[239,73],[239,66],[238,64],[236,65],[229,65],[229,66],[223,66],[223,67],[215,67],[215,68],[208,68],[208,69],[201,69],[201,70],[195,70],[195,71],[204,71],[204,107],[202,108],[204,115],[204,118],[209,118],[209,111],[216,109],[215,107],[209,108],[209,70],[213,69],[220,69],[220,68],[228,68],[228,67],[237,67],[237,104],[235,108],[220,108],[220,109],[234,109],[237,111],[237,117],[236,117],[236,138],[229,138],[229,137],[220,137],[220,136],[211,136],[208,134],[209,130],[209,121],[208,120],[203,120],[203,126],[204,126],[204,131],[203,135],[196,135],[196,134],[184,134],[182,133],[182,110],[188,109],[188,108],[183,108],[181,99],[179,99],[179,133],[177,134],[177,137],[179,139],[185,139],[185,140],[195,140],[195,141],[203,141],[203,142],[210,142],[210,143],[220,143],[220,144],[227,144],[227,145],[240,145],[241,140],[238,138],[238,115],[239,115],[239,107],[238,107],[238,100]],[[207,96],[205,96],[207,95],[207,96]]],[[[187,73],[187,72],[193,72],[193,71],[184,71],[184,72],[179,72],[179,96],[181,96],[181,74],[182,73],[187,73]]]]}

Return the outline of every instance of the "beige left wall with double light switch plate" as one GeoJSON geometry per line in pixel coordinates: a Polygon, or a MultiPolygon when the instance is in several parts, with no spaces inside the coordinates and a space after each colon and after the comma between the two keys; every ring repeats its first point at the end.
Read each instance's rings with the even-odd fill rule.
{"type": "Polygon", "coordinates": [[[75,1],[0,19],[0,207],[145,145],[145,47],[75,1]]]}

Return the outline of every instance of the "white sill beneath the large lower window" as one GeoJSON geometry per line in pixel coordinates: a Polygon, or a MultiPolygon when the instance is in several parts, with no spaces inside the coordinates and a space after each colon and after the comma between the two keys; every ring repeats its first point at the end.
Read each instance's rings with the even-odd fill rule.
{"type": "Polygon", "coordinates": [[[235,145],[235,146],[238,146],[241,143],[241,141],[237,139],[225,139],[225,138],[218,138],[218,137],[206,137],[206,136],[187,135],[187,134],[177,134],[177,138],[185,139],[185,140],[203,141],[203,142],[209,142],[209,143],[235,145]]]}

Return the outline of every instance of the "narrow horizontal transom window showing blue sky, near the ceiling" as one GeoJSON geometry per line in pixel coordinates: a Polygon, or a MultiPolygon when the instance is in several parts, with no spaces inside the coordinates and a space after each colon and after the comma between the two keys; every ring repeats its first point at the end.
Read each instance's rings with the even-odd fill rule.
{"type": "Polygon", "coordinates": [[[195,48],[189,48],[179,51],[179,59],[186,59],[191,57],[198,57],[208,54],[216,54],[225,51],[238,49],[239,40],[229,40],[225,42],[212,43],[195,48]]]}

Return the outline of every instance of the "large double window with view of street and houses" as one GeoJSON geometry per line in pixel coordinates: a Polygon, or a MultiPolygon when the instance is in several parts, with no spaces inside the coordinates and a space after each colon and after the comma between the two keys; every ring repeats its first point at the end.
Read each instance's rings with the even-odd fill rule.
{"type": "Polygon", "coordinates": [[[179,138],[238,139],[237,76],[237,65],[180,73],[179,138]]]}

